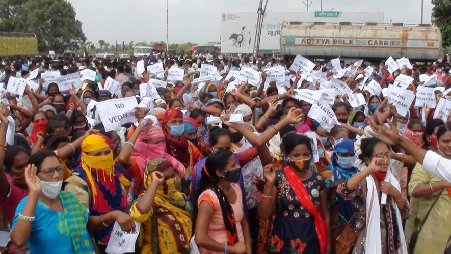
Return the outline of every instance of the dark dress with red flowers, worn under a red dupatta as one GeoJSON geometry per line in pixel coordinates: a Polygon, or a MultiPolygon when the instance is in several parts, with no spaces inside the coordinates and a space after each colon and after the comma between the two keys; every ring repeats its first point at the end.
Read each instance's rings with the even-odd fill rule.
{"type": "MultiPolygon", "coordinates": [[[[313,203],[320,209],[320,192],[326,189],[323,177],[319,173],[312,172],[311,176],[302,182],[310,193],[313,203]]],[[[299,202],[283,170],[276,171],[274,185],[278,189],[278,194],[270,252],[320,253],[315,220],[299,202]]]]}

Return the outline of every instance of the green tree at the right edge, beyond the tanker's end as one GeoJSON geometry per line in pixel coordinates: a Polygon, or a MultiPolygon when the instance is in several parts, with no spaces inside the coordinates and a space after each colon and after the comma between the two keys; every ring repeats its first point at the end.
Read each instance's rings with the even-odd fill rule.
{"type": "Polygon", "coordinates": [[[432,0],[432,16],[434,24],[442,33],[443,47],[451,45],[451,1],[432,0]]]}

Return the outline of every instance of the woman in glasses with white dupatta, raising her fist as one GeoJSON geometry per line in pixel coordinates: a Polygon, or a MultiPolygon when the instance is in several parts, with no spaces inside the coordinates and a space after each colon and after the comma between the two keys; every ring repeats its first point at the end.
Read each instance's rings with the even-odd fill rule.
{"type": "Polygon", "coordinates": [[[337,188],[337,193],[356,207],[350,221],[358,232],[352,253],[407,254],[402,224],[411,210],[389,170],[392,152],[377,138],[362,140],[361,150],[359,159],[367,165],[366,170],[337,188]]]}

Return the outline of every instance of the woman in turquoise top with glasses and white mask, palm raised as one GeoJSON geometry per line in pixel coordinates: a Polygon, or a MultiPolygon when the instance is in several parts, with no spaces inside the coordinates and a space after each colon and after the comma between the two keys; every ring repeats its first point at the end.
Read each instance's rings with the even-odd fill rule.
{"type": "Polygon", "coordinates": [[[92,253],[86,224],[88,210],[66,191],[60,191],[64,167],[54,152],[38,152],[25,168],[30,193],[17,206],[11,239],[28,243],[31,253],[92,253]]]}

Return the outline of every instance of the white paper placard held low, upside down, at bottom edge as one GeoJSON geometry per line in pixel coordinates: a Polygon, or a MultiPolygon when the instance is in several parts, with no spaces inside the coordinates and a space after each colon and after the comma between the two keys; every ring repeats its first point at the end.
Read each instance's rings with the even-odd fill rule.
{"type": "Polygon", "coordinates": [[[110,240],[105,250],[107,253],[123,254],[135,252],[135,243],[140,232],[141,223],[134,222],[135,231],[129,233],[123,231],[119,223],[114,222],[113,231],[111,232],[110,240]]]}

